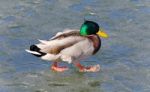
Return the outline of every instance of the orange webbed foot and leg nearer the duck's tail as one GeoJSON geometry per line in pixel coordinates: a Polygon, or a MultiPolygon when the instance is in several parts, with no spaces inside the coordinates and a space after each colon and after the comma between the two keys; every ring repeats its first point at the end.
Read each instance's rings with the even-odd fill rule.
{"type": "Polygon", "coordinates": [[[68,70],[66,66],[63,66],[63,67],[58,66],[57,62],[53,63],[53,65],[51,66],[51,69],[56,72],[64,72],[68,70]]]}

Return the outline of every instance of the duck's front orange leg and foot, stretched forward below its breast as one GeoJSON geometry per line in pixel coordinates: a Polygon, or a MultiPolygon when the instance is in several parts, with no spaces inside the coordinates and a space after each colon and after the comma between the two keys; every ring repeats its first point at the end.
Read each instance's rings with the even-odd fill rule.
{"type": "Polygon", "coordinates": [[[79,68],[79,72],[98,72],[100,70],[100,65],[88,66],[85,67],[81,65],[79,62],[74,63],[76,67],[79,68]]]}

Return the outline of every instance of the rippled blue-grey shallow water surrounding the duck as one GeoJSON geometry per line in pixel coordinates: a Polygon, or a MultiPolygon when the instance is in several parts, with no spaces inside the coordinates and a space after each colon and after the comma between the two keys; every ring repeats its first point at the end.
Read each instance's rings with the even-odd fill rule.
{"type": "Polygon", "coordinates": [[[0,92],[150,92],[149,0],[0,0],[0,92]],[[98,73],[49,70],[24,51],[84,18],[110,35],[82,62],[98,73]]]}

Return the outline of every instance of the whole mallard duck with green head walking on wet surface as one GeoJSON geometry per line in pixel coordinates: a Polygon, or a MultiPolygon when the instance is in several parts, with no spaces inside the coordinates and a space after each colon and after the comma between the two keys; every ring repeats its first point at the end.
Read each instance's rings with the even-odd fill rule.
{"type": "Polygon", "coordinates": [[[83,66],[80,60],[94,55],[101,47],[101,39],[108,38],[99,25],[94,21],[85,21],[80,30],[67,29],[58,32],[50,40],[39,40],[39,44],[30,46],[27,52],[43,60],[53,61],[51,69],[63,72],[69,68],[58,66],[60,61],[74,64],[80,72],[97,72],[100,65],[83,66]]]}

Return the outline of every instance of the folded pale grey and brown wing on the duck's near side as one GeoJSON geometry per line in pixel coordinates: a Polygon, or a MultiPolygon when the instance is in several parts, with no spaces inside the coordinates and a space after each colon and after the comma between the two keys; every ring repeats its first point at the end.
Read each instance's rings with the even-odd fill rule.
{"type": "Polygon", "coordinates": [[[61,50],[68,48],[84,39],[85,37],[80,36],[79,31],[67,31],[59,34],[49,41],[39,40],[41,43],[36,44],[36,46],[40,48],[41,52],[58,54],[61,50]]]}

